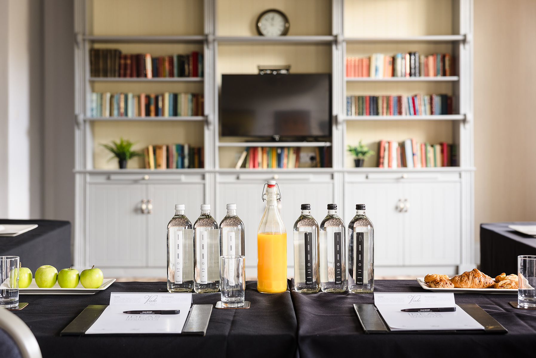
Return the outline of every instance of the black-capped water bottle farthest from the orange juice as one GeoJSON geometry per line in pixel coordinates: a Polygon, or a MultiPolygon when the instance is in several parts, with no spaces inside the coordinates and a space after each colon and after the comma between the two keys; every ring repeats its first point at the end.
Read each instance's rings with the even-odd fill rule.
{"type": "Polygon", "coordinates": [[[348,224],[348,290],[356,294],[374,291],[374,227],[364,204],[348,224]]]}

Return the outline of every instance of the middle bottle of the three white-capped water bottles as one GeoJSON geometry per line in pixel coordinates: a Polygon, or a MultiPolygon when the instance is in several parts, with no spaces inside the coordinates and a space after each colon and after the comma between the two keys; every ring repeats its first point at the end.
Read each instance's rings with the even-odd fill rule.
{"type": "Polygon", "coordinates": [[[193,224],[195,281],[197,293],[218,292],[220,289],[220,230],[210,215],[210,204],[202,204],[201,215],[193,224]]]}

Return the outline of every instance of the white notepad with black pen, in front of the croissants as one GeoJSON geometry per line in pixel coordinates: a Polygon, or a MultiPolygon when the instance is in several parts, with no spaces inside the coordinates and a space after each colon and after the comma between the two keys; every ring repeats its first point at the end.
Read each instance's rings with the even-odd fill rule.
{"type": "Polygon", "coordinates": [[[374,304],[391,331],[483,330],[458,306],[453,293],[374,293],[374,304]],[[401,312],[411,308],[456,307],[455,312],[401,312]]]}

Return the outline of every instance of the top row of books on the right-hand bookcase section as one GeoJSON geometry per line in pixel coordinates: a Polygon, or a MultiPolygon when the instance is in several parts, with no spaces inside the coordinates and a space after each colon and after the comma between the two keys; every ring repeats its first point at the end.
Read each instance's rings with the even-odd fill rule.
{"type": "Polygon", "coordinates": [[[394,56],[373,54],[346,58],[346,77],[436,77],[452,74],[450,54],[419,56],[418,52],[410,52],[394,56]]]}

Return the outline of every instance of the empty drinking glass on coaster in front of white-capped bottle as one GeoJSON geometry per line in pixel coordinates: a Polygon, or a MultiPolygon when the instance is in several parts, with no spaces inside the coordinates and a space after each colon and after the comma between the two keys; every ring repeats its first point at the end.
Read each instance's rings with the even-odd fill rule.
{"type": "Polygon", "coordinates": [[[220,256],[221,305],[240,307],[244,305],[245,256],[220,256]]]}

